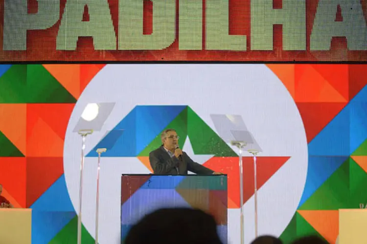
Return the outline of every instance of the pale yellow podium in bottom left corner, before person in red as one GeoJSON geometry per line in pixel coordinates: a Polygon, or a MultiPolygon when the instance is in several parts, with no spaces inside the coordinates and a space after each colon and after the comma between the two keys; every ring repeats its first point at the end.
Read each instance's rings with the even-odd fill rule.
{"type": "Polygon", "coordinates": [[[31,244],[32,209],[0,208],[0,244],[31,244]]]}

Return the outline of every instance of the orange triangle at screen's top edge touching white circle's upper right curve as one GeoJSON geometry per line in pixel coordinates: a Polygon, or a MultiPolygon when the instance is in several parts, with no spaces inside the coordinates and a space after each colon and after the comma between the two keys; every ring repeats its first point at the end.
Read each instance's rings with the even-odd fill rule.
{"type": "Polygon", "coordinates": [[[267,64],[295,99],[295,64],[267,64]]]}

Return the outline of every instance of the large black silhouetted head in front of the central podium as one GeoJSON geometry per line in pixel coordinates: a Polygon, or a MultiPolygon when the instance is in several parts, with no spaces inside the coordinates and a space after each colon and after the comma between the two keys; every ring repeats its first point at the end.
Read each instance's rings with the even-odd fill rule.
{"type": "Polygon", "coordinates": [[[222,244],[214,218],[198,209],[166,208],[146,215],[125,244],[222,244]]]}

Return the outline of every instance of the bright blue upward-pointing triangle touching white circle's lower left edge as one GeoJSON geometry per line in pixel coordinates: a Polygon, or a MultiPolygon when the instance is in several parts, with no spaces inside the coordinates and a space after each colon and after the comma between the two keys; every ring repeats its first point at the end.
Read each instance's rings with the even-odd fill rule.
{"type": "Polygon", "coordinates": [[[73,212],[64,174],[30,208],[35,211],[73,212]]]}

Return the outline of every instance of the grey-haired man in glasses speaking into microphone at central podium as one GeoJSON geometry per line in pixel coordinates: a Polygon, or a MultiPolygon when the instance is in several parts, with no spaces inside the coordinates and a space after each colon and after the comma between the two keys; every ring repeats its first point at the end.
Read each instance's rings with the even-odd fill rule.
{"type": "Polygon", "coordinates": [[[221,174],[194,162],[179,148],[178,140],[176,130],[166,129],[162,132],[162,145],[149,153],[149,162],[154,174],[187,175],[187,171],[199,175],[221,174]]]}

